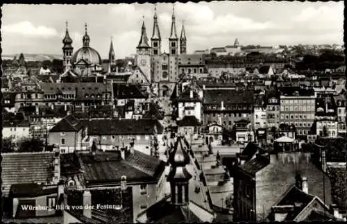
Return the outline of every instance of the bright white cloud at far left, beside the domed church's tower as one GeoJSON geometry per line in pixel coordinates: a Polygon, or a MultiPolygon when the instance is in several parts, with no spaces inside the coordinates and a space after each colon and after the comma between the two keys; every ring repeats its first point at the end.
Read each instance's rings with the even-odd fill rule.
{"type": "Polygon", "coordinates": [[[32,35],[38,37],[53,37],[58,35],[56,29],[46,26],[35,27],[30,21],[20,21],[17,24],[3,25],[2,31],[3,33],[32,35]]]}

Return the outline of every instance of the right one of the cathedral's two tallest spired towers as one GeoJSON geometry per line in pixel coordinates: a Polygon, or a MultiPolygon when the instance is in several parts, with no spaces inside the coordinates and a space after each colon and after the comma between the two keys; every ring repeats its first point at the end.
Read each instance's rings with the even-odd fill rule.
{"type": "Polygon", "coordinates": [[[172,6],[171,34],[169,37],[169,59],[170,59],[169,80],[171,82],[176,82],[178,80],[178,37],[177,37],[176,16],[175,16],[174,6],[172,6]]]}

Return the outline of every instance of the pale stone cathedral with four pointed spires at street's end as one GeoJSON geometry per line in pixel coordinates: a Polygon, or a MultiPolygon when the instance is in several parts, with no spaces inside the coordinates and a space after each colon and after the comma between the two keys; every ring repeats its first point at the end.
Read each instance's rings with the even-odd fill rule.
{"type": "Polygon", "coordinates": [[[169,52],[162,52],[162,36],[158,22],[157,7],[154,7],[153,32],[151,43],[147,37],[146,26],[142,23],[141,37],[137,45],[135,65],[141,69],[144,76],[150,80],[160,96],[169,96],[178,81],[178,60],[180,55],[187,54],[187,37],[182,24],[180,37],[176,28],[176,15],[172,8],[171,31],[169,35],[169,52]]]}

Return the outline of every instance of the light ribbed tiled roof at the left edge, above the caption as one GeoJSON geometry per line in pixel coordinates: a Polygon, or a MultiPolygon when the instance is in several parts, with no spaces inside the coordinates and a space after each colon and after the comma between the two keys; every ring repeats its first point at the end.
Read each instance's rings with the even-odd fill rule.
{"type": "Polygon", "coordinates": [[[54,153],[3,153],[2,187],[8,193],[12,184],[42,183],[51,181],[54,153]]]}

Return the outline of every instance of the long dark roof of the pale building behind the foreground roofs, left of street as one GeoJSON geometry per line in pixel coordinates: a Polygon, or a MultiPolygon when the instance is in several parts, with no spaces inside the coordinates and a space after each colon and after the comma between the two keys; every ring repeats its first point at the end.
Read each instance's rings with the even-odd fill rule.
{"type": "Polygon", "coordinates": [[[158,134],[164,128],[155,119],[108,119],[88,122],[88,135],[153,135],[154,126],[158,134]]]}

